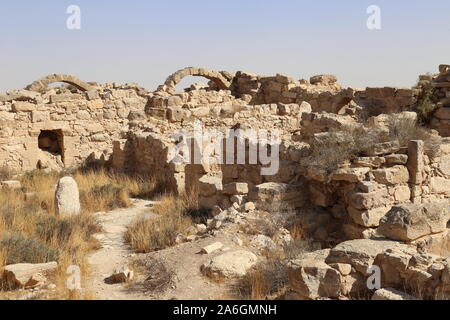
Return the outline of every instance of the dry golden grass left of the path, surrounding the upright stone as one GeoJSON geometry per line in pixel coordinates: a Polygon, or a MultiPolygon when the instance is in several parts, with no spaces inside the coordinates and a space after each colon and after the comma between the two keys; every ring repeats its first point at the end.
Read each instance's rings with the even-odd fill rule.
{"type": "Polygon", "coordinates": [[[86,256],[98,247],[92,235],[101,231],[93,213],[127,207],[131,196],[155,192],[156,184],[105,170],[72,172],[82,214],[61,218],[55,211],[54,193],[58,179],[67,174],[36,170],[20,177],[22,190],[0,190],[0,268],[57,261],[52,279],[57,285],[55,298],[86,299],[89,291],[80,294],[66,288],[66,272],[69,266],[78,266],[82,287],[89,286],[86,256]]]}

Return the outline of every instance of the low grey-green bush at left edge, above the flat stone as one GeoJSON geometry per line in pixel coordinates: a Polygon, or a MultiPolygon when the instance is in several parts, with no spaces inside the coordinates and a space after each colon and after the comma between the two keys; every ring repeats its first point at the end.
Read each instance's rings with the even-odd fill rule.
{"type": "Polygon", "coordinates": [[[6,264],[45,263],[58,260],[58,251],[45,242],[26,238],[20,233],[6,235],[0,241],[6,253],[6,264]]]}

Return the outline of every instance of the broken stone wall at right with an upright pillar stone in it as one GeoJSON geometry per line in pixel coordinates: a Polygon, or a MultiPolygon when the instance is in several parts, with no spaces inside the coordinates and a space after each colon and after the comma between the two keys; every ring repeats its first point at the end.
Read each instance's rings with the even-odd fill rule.
{"type": "Polygon", "coordinates": [[[423,141],[411,141],[407,148],[384,144],[378,154],[347,163],[329,180],[310,174],[310,199],[341,222],[337,226],[346,239],[374,237],[394,205],[448,203],[450,140],[443,140],[433,157],[425,148],[423,141]]]}

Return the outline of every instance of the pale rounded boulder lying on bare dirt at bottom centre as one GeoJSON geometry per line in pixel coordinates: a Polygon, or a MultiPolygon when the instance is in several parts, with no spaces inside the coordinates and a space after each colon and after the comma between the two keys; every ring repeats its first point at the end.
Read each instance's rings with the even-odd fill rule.
{"type": "Polygon", "coordinates": [[[250,251],[230,251],[203,264],[201,271],[214,279],[242,277],[257,261],[256,255],[250,251]]]}

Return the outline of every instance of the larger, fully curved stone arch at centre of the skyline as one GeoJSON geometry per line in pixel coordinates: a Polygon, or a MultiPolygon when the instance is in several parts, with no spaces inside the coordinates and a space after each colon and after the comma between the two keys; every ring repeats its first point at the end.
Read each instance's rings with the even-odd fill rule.
{"type": "Polygon", "coordinates": [[[227,77],[220,72],[204,68],[188,67],[178,70],[174,74],[170,75],[164,83],[164,87],[166,89],[175,89],[175,86],[187,76],[204,77],[213,81],[220,90],[228,90],[231,86],[231,79],[227,79],[227,77]]]}

